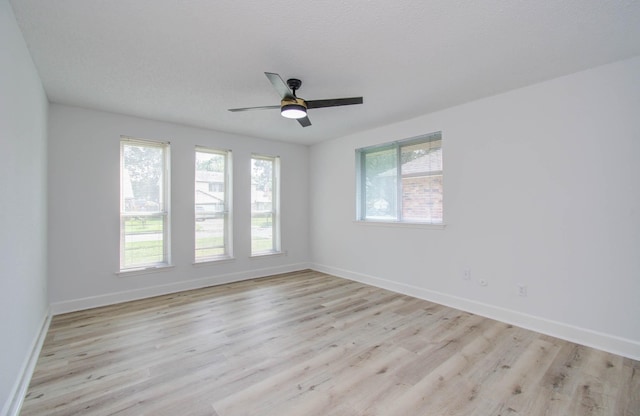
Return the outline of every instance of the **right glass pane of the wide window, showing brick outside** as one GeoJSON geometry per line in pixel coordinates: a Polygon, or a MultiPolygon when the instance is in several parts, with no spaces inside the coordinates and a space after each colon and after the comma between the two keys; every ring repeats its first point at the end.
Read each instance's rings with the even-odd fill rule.
{"type": "Polygon", "coordinates": [[[403,146],[402,218],[442,223],[442,148],[440,141],[403,146]]]}

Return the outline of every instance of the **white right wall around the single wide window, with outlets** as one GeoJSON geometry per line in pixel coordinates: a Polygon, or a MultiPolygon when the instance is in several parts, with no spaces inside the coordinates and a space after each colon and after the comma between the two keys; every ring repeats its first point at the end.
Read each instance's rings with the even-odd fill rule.
{"type": "Polygon", "coordinates": [[[640,358],[640,57],[315,145],[310,178],[315,268],[640,358]],[[354,223],[354,150],[435,131],[447,227],[354,223]]]}

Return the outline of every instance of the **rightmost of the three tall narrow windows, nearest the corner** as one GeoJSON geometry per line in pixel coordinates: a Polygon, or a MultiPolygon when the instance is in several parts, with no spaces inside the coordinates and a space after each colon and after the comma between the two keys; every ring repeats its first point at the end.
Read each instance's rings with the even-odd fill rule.
{"type": "Polygon", "coordinates": [[[280,252],[280,158],[251,157],[251,255],[280,252]]]}

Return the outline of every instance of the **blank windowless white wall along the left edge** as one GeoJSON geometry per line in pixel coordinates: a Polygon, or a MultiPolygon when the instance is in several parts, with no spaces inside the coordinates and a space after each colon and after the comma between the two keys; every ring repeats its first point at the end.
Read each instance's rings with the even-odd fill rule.
{"type": "Polygon", "coordinates": [[[47,97],[0,0],[0,414],[19,407],[46,321],[47,97]]]}

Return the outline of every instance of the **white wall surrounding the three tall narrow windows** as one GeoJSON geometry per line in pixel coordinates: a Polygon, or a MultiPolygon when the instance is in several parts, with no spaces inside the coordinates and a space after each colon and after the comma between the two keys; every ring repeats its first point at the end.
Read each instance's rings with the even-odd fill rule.
{"type": "Polygon", "coordinates": [[[54,313],[308,267],[308,153],[302,145],[51,104],[49,286],[54,313]],[[121,135],[171,142],[174,268],[116,274],[121,135]],[[192,264],[196,145],[233,151],[233,261],[192,264]],[[281,157],[286,256],[249,257],[252,152],[281,157]]]}

